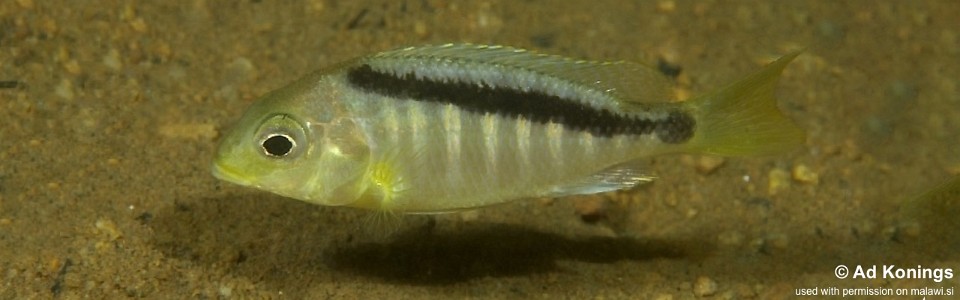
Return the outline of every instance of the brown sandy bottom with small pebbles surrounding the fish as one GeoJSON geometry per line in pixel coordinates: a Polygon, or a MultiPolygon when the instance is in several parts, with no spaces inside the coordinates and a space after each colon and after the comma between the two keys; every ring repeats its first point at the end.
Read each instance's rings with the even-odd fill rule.
{"type": "Polygon", "coordinates": [[[960,172],[960,5],[622,2],[3,1],[0,298],[955,293],[960,226],[936,208],[958,200],[899,211],[960,172]],[[410,217],[388,236],[367,212],[210,175],[257,96],[458,41],[663,62],[688,95],[806,48],[778,97],[807,142],[650,158],[660,179],[631,193],[410,217]]]}

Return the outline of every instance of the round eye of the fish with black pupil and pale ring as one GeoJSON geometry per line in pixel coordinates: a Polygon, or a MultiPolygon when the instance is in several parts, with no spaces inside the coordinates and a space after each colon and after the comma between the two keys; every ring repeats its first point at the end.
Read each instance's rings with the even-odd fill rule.
{"type": "Polygon", "coordinates": [[[269,158],[293,158],[307,145],[303,125],[289,115],[277,114],[264,119],[257,130],[256,147],[269,158]]]}

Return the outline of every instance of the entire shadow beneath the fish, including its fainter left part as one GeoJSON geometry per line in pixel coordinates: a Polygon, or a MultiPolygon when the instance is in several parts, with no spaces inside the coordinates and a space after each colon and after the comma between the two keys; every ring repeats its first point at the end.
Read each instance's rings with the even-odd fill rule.
{"type": "Polygon", "coordinates": [[[577,236],[482,221],[417,222],[429,219],[423,216],[406,220],[388,237],[371,237],[358,228],[368,216],[366,211],[251,193],[178,201],[142,222],[153,228],[155,246],[170,258],[278,288],[307,284],[298,282],[302,278],[446,285],[569,271],[564,261],[699,260],[714,247],[702,241],[577,236]]]}

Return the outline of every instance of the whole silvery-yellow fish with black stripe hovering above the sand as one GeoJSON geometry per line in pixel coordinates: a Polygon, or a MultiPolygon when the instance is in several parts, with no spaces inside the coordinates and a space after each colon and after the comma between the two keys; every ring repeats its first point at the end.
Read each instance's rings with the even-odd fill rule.
{"type": "Polygon", "coordinates": [[[687,101],[640,63],[442,44],[362,56],[267,93],[215,177],[326,206],[436,214],[629,190],[670,153],[772,155],[805,140],[774,98],[798,52],[687,101]]]}

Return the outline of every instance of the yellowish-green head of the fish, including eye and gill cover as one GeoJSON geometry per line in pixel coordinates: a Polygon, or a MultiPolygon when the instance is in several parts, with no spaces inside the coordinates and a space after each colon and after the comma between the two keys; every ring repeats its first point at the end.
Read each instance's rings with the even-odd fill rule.
{"type": "Polygon", "coordinates": [[[213,175],[315,204],[356,201],[370,147],[331,97],[294,84],[257,100],[221,140],[213,175]]]}

